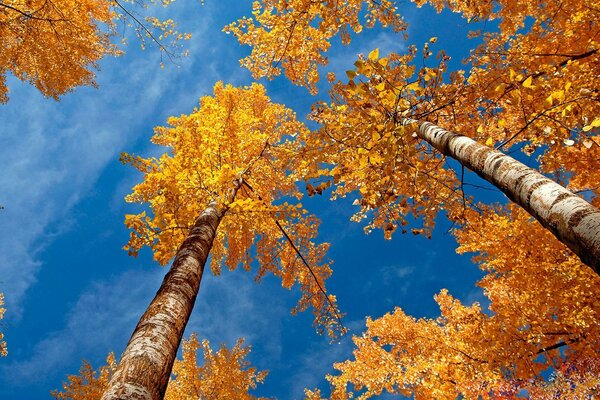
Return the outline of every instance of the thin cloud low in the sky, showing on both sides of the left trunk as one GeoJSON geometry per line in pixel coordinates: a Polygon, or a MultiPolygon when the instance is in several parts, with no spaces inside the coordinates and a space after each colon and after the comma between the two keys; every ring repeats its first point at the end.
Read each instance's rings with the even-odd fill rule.
{"type": "MultiPolygon", "coordinates": [[[[28,356],[1,367],[0,387],[5,391],[18,391],[23,385],[58,388],[66,380],[66,366],[76,373],[82,358],[97,366],[110,351],[118,357],[166,272],[158,267],[129,270],[90,285],[68,314],[63,329],[36,343],[28,356]]],[[[272,283],[257,285],[252,273],[242,270],[225,271],[220,277],[205,271],[184,337],[197,332],[213,347],[232,345],[244,337],[250,345],[263,343],[261,357],[278,358],[280,324],[289,309],[285,297],[273,296],[273,289],[272,283]]]]}

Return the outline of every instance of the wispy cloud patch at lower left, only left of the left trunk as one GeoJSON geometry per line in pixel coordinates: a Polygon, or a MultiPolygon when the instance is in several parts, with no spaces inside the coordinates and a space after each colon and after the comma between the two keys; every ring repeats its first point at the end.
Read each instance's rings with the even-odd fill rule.
{"type": "Polygon", "coordinates": [[[2,386],[48,383],[66,365],[75,365],[75,373],[84,357],[102,360],[114,350],[115,341],[127,340],[164,272],[128,271],[92,284],[69,312],[63,329],[36,343],[27,357],[2,367],[2,386]]]}

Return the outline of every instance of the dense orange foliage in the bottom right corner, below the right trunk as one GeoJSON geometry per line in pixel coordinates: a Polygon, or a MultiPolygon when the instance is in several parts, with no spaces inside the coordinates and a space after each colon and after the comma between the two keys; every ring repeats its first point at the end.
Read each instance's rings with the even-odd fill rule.
{"type": "Polygon", "coordinates": [[[366,333],[354,338],[354,360],[336,364],[340,374],[328,377],[332,399],[349,398],[348,383],[359,398],[383,391],[417,399],[516,398],[522,390],[584,398],[573,395],[599,388],[589,368],[598,371],[600,357],[600,278],[516,206],[488,208],[469,221],[457,232],[458,251],[478,253],[490,310],[443,290],[435,320],[399,308],[368,320],[366,333]],[[550,387],[541,374],[549,368],[581,385],[550,387]]]}

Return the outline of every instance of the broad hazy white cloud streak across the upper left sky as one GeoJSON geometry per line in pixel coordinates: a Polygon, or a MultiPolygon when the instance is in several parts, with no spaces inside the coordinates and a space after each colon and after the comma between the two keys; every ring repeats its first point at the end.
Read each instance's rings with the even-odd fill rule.
{"type": "MultiPolygon", "coordinates": [[[[194,51],[202,58],[202,49],[210,45],[203,38],[208,14],[196,22],[194,51]]],[[[207,74],[174,96],[171,85],[190,80],[186,74],[193,72],[193,59],[184,59],[182,68],[161,70],[155,49],[143,53],[135,46],[132,40],[128,54],[103,62],[99,89],[78,88],[60,102],[9,81],[9,103],[0,106],[0,204],[5,207],[0,211],[0,292],[6,295],[8,319],[22,313],[25,292],[42,267],[40,251],[52,241],[49,232],[66,229],[69,212],[93,190],[106,166],[137,137],[149,138],[148,126],[163,124],[167,112],[191,109],[197,97],[190,100],[190,93],[212,84],[213,75],[207,74]]]]}

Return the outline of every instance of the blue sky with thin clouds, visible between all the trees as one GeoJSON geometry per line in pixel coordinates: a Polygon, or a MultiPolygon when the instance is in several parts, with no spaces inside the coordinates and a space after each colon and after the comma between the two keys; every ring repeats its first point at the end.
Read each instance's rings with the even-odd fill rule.
{"type": "MultiPolygon", "coordinates": [[[[252,82],[238,63],[249,49],[221,32],[250,9],[249,1],[175,3],[161,12],[193,34],[190,56],[180,65],[167,62],[161,69],[158,51],[141,51],[131,38],[124,56],[101,63],[98,89],[78,88],[59,102],[9,78],[10,100],[0,106],[0,292],[7,302],[0,330],[9,348],[0,359],[0,399],[50,398],[82,359],[98,366],[108,352],[123,350],[166,269],[149,251],[131,258],[121,250],[128,237],[124,215],[136,211],[123,197],[140,176],[119,163],[119,154],[157,154],[161,149],[149,142],[154,126],[190,112],[218,80],[252,82]]],[[[411,4],[401,11],[410,23],[408,42],[365,31],[349,47],[336,41],[325,70],[342,73],[358,53],[375,47],[401,52],[432,36],[438,37],[435,49],[445,49],[458,68],[476,44],[456,15],[411,4]]],[[[262,83],[274,101],[301,117],[318,99],[283,78],[262,83]]],[[[366,316],[394,306],[435,317],[433,295],[442,288],[467,303],[483,301],[474,286],[480,272],[469,256],[454,253],[443,218],[431,240],[396,234],[384,241],[380,231],[365,236],[349,221],[351,199],[303,202],[323,221],[320,238],[332,244],[328,287],[351,333],[360,334],[366,316]]],[[[185,336],[198,332],[214,346],[245,337],[252,362],[270,370],[257,395],[296,399],[305,387],[324,388],[332,363],[350,357],[351,335],[329,344],[314,332],[310,313],[290,315],[299,293],[275,279],[257,285],[253,278],[244,271],[206,273],[185,336]]]]}

